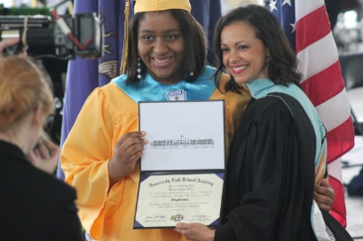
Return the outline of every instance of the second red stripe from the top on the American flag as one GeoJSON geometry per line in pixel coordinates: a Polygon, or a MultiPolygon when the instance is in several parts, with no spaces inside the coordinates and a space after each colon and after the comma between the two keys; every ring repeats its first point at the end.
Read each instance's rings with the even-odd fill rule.
{"type": "Polygon", "coordinates": [[[344,89],[339,61],[337,60],[332,66],[328,66],[320,73],[308,78],[302,83],[302,87],[314,106],[321,105],[335,97],[344,89]]]}

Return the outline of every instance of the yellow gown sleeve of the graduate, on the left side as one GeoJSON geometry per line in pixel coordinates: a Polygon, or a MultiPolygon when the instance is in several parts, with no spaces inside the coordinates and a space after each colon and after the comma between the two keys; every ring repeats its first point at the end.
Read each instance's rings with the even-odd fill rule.
{"type": "Polygon", "coordinates": [[[114,114],[105,94],[95,89],[87,98],[61,152],[65,181],[77,190],[83,228],[100,238],[109,206],[122,201],[123,179],[109,189],[108,161],[113,156],[114,114]],[[96,114],[95,114],[96,113],[96,114]]]}

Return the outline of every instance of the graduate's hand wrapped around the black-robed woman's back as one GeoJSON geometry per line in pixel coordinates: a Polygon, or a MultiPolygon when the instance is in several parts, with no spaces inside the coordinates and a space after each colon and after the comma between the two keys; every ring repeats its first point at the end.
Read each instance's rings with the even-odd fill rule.
{"type": "Polygon", "coordinates": [[[327,183],[327,179],[323,179],[321,180],[320,184],[315,185],[314,200],[321,209],[329,212],[331,207],[333,206],[334,199],[334,190],[332,186],[327,183]]]}

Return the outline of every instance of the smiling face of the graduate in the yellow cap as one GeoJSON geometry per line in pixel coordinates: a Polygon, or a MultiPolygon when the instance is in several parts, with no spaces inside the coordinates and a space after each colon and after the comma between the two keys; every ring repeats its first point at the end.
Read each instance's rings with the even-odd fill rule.
{"type": "Polygon", "coordinates": [[[157,82],[174,84],[184,79],[184,47],[180,25],[169,12],[147,12],[140,20],[138,56],[157,82]]]}

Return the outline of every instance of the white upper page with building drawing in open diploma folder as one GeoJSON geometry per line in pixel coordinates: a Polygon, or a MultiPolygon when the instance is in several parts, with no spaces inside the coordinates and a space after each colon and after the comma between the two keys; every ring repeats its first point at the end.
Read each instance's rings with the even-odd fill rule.
{"type": "Polygon", "coordinates": [[[224,101],[140,102],[141,172],[225,169],[224,101]]]}

